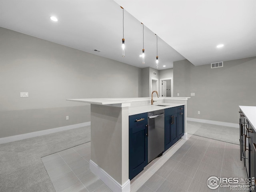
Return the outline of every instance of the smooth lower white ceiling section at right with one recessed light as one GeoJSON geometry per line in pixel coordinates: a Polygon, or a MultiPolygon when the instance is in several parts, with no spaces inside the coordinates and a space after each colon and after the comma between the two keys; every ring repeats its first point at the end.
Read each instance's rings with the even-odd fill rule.
{"type": "Polygon", "coordinates": [[[194,65],[256,56],[256,0],[114,1],[194,65]]]}

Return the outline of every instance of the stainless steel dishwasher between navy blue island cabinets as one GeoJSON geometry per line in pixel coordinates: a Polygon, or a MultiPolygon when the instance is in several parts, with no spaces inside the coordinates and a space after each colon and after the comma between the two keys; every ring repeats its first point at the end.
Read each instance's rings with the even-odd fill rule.
{"type": "Polygon", "coordinates": [[[148,112],[148,162],[164,151],[164,110],[148,112]]]}

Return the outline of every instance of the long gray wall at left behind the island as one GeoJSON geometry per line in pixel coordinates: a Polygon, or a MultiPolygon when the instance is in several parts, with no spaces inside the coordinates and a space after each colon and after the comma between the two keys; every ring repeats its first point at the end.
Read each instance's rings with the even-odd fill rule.
{"type": "Polygon", "coordinates": [[[0,138],[89,122],[90,105],[67,98],[138,97],[141,76],[140,68],[0,28],[0,138]]]}

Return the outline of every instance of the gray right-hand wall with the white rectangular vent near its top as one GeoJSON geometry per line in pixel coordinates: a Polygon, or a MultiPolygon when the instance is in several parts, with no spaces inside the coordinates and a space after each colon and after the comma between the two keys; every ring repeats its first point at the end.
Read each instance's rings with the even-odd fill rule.
{"type": "Polygon", "coordinates": [[[188,117],[238,123],[239,105],[256,106],[256,57],[225,61],[223,67],[174,62],[174,96],[188,99],[188,117]],[[200,114],[198,114],[200,111],[200,114]]]}

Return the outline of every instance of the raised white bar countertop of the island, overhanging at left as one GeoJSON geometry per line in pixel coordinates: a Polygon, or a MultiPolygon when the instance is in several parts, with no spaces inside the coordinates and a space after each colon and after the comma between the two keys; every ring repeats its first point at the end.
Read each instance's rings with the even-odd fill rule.
{"type": "MultiPolygon", "coordinates": [[[[154,100],[188,100],[190,97],[154,97],[154,100]]],[[[85,99],[67,99],[67,101],[85,102],[97,105],[111,105],[131,103],[136,101],[148,101],[151,97],[137,97],[137,98],[85,98],[85,99]]]]}

